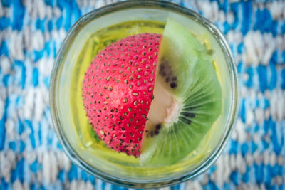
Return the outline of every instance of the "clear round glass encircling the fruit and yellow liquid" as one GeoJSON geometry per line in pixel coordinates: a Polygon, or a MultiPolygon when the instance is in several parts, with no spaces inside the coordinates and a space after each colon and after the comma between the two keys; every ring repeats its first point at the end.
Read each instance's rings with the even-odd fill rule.
{"type": "Polygon", "coordinates": [[[78,167],[120,186],[170,186],[202,174],[222,152],[237,117],[237,71],[222,33],[195,11],[165,1],[123,1],[86,14],[68,32],[51,74],[50,105],[58,140],[68,157],[78,167]],[[177,19],[197,38],[207,38],[214,46],[215,67],[222,87],[222,114],[202,139],[195,153],[182,162],[167,167],[142,167],[127,156],[117,158],[113,153],[88,147],[82,136],[78,135],[78,128],[86,126],[86,123],[74,122],[78,120],[74,118],[74,112],[80,115],[81,111],[77,112],[71,108],[71,81],[74,68],[78,66],[78,56],[90,35],[102,28],[125,21],[149,20],[165,23],[168,16],[177,19]]]}

